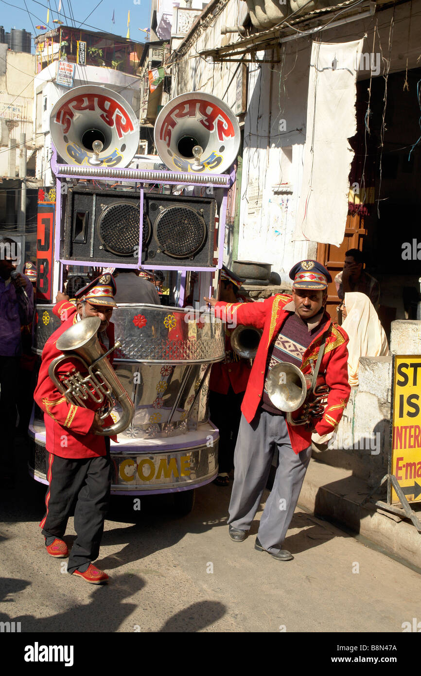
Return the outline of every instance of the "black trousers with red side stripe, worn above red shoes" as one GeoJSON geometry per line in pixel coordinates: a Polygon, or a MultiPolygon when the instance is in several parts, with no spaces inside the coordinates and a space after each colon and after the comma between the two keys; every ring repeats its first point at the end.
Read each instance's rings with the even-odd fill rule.
{"type": "Polygon", "coordinates": [[[109,438],[105,441],[106,456],[73,459],[48,454],[47,513],[40,526],[45,537],[62,538],[74,507],[76,539],[68,573],[95,561],[99,554],[111,488],[109,438]]]}

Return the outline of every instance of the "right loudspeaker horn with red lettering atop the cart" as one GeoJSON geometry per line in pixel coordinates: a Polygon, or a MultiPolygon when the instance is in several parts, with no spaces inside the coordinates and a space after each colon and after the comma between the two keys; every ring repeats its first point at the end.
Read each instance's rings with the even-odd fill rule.
{"type": "Polygon", "coordinates": [[[192,91],[169,101],[159,112],[155,148],[173,171],[222,174],[237,158],[240,127],[226,103],[192,91]],[[202,149],[195,161],[193,148],[202,149]]]}

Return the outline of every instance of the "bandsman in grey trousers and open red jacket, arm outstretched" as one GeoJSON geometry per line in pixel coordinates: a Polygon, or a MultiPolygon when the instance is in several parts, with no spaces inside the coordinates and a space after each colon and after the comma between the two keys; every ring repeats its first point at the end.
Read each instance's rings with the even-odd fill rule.
{"type": "Polygon", "coordinates": [[[292,297],[278,294],[263,303],[243,305],[205,299],[227,322],[263,329],[241,405],[243,416],[234,453],[228,524],[231,539],[243,541],[257,512],[277,449],[274,486],[260,520],[255,549],[282,561],[293,558],[290,552],[282,550],[282,542],[309,464],[312,432],[316,429],[322,436],[335,430],[351,390],[347,334],[324,310],[327,285],[332,281],[328,270],[317,261],[303,260],[292,268],[289,276],[294,280],[292,297]],[[312,420],[312,424],[293,427],[268,396],[268,374],[278,362],[290,362],[303,373],[311,373],[324,339],[319,373],[330,387],[324,414],[312,420]]]}

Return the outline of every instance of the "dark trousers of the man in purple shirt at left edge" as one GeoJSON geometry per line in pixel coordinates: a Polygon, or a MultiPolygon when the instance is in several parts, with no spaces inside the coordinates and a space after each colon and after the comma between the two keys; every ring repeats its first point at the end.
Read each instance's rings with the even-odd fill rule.
{"type": "Polygon", "coordinates": [[[12,471],[14,467],[19,374],[19,357],[0,356],[0,445],[1,465],[5,472],[12,471]]]}

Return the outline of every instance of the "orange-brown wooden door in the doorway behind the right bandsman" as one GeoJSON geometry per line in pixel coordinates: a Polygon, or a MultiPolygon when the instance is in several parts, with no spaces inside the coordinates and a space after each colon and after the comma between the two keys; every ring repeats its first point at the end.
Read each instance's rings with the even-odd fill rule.
{"type": "Polygon", "coordinates": [[[328,285],[326,310],[334,322],[338,319],[337,306],[339,305],[339,297],[334,281],[335,275],[343,269],[346,251],[349,249],[358,249],[359,251],[362,251],[366,234],[367,231],[364,227],[364,216],[360,216],[359,214],[351,216],[351,214],[348,214],[345,235],[341,246],[335,247],[333,244],[318,244],[317,260],[329,270],[330,275],[332,276],[332,282],[328,285]]]}

